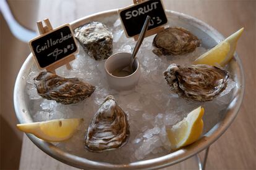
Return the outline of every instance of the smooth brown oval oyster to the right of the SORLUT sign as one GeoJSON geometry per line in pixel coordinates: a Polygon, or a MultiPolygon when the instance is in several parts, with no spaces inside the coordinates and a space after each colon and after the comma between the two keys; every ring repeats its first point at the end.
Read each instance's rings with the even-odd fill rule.
{"type": "Polygon", "coordinates": [[[158,56],[186,54],[198,46],[200,40],[188,30],[179,27],[166,28],[153,39],[153,53],[158,56]]]}

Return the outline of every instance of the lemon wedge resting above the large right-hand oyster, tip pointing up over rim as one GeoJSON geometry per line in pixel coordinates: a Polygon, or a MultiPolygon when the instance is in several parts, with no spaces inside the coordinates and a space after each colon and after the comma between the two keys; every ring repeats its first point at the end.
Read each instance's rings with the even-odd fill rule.
{"type": "Polygon", "coordinates": [[[207,64],[212,66],[224,66],[232,59],[236,51],[237,41],[240,38],[244,28],[236,31],[217,46],[202,54],[194,61],[194,64],[207,64]]]}

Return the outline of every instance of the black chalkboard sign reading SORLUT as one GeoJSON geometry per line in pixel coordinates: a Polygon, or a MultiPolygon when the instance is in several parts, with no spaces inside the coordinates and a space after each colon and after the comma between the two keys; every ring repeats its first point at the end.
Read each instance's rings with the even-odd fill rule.
{"type": "Polygon", "coordinates": [[[126,35],[132,37],[140,34],[147,15],[151,17],[148,30],[167,23],[167,17],[161,0],[143,1],[139,4],[120,9],[119,17],[124,25],[126,35]]]}

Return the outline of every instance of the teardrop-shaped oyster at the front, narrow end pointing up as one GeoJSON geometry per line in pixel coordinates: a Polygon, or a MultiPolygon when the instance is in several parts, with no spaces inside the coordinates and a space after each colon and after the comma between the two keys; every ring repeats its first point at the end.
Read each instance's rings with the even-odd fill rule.
{"type": "Polygon", "coordinates": [[[103,152],[122,147],[129,137],[127,116],[114,97],[108,95],[96,112],[85,136],[85,148],[103,152]]]}

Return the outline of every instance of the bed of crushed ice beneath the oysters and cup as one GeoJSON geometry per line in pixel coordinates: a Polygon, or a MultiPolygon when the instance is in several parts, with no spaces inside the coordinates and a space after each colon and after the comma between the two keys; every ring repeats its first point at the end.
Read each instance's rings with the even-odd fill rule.
{"type": "MultiPolygon", "coordinates": [[[[108,23],[114,36],[114,52],[132,52],[135,42],[127,39],[121,27],[120,20],[108,23]],[[114,26],[113,26],[114,25],[114,26]]],[[[171,94],[163,78],[163,71],[170,63],[189,64],[206,50],[198,47],[194,52],[175,57],[157,57],[151,52],[153,36],[145,38],[137,54],[141,63],[142,76],[139,84],[131,91],[116,92],[109,89],[106,83],[104,63],[96,61],[85,54],[79,46],[77,59],[72,62],[72,70],[65,67],[59,68],[57,74],[66,78],[78,77],[96,86],[95,92],[88,99],[72,105],[61,105],[53,100],[42,99],[33,87],[33,78],[39,71],[33,65],[27,76],[27,93],[30,97],[30,113],[34,121],[46,121],[59,118],[83,118],[84,123],[79,131],[66,142],[56,145],[75,155],[83,156],[90,160],[106,161],[109,163],[130,163],[147,158],[156,158],[170,152],[170,144],[166,136],[166,128],[173,126],[187,116],[189,111],[199,105],[205,107],[205,117],[211,117],[210,122],[204,119],[206,126],[204,133],[213,127],[221,118],[223,108],[231,100],[231,91],[236,83],[229,79],[228,87],[221,95],[211,102],[198,103],[177,97],[171,94]],[[119,105],[129,117],[130,138],[124,147],[117,150],[91,153],[83,148],[83,137],[90,120],[106,95],[112,94],[119,105]],[[111,156],[109,156],[111,155],[111,156]]]]}

